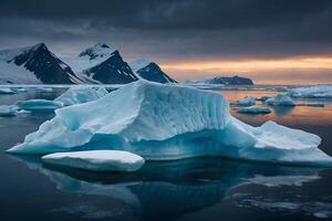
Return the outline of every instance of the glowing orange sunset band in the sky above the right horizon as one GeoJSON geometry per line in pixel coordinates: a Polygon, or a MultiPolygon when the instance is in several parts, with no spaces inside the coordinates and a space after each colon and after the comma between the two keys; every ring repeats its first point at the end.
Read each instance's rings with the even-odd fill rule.
{"type": "Polygon", "coordinates": [[[216,74],[241,74],[250,76],[261,84],[301,84],[301,80],[307,83],[308,78],[310,78],[309,83],[329,83],[332,81],[332,56],[179,61],[164,63],[162,67],[174,73],[180,80],[187,78],[187,75],[199,78],[216,74]],[[274,80],[271,81],[271,78],[274,80]]]}

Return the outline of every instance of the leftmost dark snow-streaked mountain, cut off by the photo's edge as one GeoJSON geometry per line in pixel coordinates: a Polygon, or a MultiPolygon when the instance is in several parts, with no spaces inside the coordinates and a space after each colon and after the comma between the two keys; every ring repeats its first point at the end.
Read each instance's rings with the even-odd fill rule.
{"type": "Polygon", "coordinates": [[[0,51],[0,83],[75,84],[81,80],[44,43],[0,51]]]}

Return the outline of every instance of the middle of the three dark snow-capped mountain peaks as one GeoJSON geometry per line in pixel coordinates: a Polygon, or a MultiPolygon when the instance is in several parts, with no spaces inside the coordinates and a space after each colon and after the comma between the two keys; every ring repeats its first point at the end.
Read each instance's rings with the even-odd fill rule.
{"type": "Polygon", "coordinates": [[[66,62],[80,77],[93,83],[126,84],[138,80],[118,51],[102,43],[84,50],[66,62]]]}

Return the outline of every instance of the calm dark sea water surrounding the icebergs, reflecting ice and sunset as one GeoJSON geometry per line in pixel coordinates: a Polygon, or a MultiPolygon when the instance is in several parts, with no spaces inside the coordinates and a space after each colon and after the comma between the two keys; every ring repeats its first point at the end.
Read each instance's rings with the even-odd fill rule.
{"type": "MultiPolygon", "coordinates": [[[[0,104],[51,99],[60,93],[0,95],[0,104]]],[[[276,92],[220,93],[235,101],[276,92]]],[[[332,103],[320,102],[326,106],[278,108],[257,116],[239,115],[232,107],[231,113],[251,125],[272,119],[318,134],[323,139],[320,148],[332,155],[332,103]]],[[[52,116],[39,113],[0,118],[1,221],[332,220],[331,169],[196,158],[148,162],[135,173],[91,173],[3,152],[52,116]]]]}

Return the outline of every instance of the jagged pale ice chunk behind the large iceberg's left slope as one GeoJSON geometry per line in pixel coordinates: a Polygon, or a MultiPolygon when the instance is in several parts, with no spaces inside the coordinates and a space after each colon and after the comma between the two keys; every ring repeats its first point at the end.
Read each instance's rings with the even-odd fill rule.
{"type": "Polygon", "coordinates": [[[108,94],[108,92],[103,87],[94,90],[91,86],[79,86],[69,88],[54,101],[62,103],[64,106],[70,106],[92,102],[105,96],[106,94],[108,94]]]}

